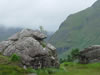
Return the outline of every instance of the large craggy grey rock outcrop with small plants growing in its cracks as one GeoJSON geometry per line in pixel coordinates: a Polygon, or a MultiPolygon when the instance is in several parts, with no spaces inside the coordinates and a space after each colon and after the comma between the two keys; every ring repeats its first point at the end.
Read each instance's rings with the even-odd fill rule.
{"type": "Polygon", "coordinates": [[[0,52],[5,56],[18,54],[26,67],[59,67],[56,48],[43,41],[46,37],[38,30],[24,29],[1,42],[0,52]]]}

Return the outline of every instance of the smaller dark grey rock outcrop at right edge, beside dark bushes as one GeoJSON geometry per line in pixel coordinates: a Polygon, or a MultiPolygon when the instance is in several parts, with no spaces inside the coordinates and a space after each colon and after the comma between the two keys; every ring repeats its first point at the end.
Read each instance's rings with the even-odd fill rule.
{"type": "Polygon", "coordinates": [[[100,45],[93,45],[80,52],[80,63],[100,62],[100,45]]]}

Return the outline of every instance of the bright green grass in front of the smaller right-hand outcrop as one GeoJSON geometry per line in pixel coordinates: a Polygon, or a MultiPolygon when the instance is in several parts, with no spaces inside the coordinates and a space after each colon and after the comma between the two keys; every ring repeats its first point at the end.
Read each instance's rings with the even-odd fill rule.
{"type": "Polygon", "coordinates": [[[64,63],[62,66],[67,70],[66,75],[100,75],[100,63],[86,65],[64,63]]]}

